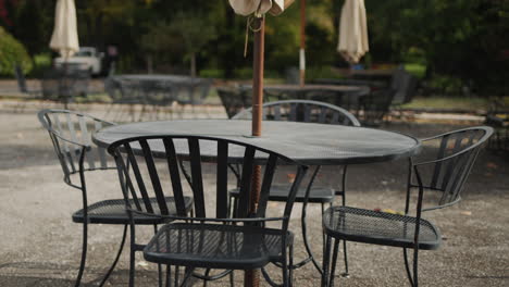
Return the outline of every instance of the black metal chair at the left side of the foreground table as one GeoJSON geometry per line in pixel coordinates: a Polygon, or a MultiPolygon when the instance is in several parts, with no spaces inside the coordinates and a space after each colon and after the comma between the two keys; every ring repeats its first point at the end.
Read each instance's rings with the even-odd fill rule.
{"type": "MultiPolygon", "coordinates": [[[[108,155],[105,149],[96,147],[91,142],[91,135],[96,130],[114,124],[67,110],[41,110],[38,113],[38,118],[49,133],[54,152],[62,166],[64,183],[82,191],[83,209],[72,215],[73,222],[83,224],[82,259],[76,286],[79,286],[85,270],[88,224],[124,225],[119,252],[112,266],[100,283],[100,286],[102,286],[114,270],[122,253],[129,217],[124,209],[123,199],[103,200],[88,204],[85,173],[115,170],[115,165],[111,162],[112,159],[108,155]]],[[[172,201],[173,199],[169,198],[167,200],[172,201]]],[[[191,201],[191,198],[186,198],[186,210],[190,210],[191,201]]],[[[142,216],[135,216],[135,222],[136,224],[149,225],[162,223],[159,219],[142,216]]]]}

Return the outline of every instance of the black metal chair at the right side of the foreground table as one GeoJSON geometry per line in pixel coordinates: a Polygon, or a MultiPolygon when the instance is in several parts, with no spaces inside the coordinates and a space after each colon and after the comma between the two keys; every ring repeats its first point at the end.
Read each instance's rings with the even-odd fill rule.
{"type": "Polygon", "coordinates": [[[460,201],[460,194],[475,158],[492,134],[493,128],[480,126],[423,139],[423,152],[409,160],[405,215],[351,207],[326,210],[323,215],[327,240],[322,286],[334,285],[339,240],[402,248],[407,276],[411,286],[418,286],[419,250],[437,249],[442,241],[438,228],[422,219],[421,212],[450,207],[460,201]],[[410,201],[415,196],[411,191],[415,189],[415,216],[411,216],[410,201]],[[334,251],[332,270],[328,272],[332,240],[334,251]],[[412,269],[407,249],[413,250],[412,269]]]}

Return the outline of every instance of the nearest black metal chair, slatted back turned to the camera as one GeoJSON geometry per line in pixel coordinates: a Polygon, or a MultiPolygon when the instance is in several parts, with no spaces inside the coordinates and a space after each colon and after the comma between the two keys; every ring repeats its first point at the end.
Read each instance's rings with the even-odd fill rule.
{"type": "Polygon", "coordinates": [[[215,279],[232,274],[232,270],[260,269],[270,262],[283,266],[284,286],[290,286],[291,269],[287,266],[293,260],[293,234],[288,224],[307,166],[270,150],[204,136],[135,137],[113,142],[108,151],[115,158],[126,209],[133,219],[129,286],[134,286],[135,279],[135,252],[140,250],[144,250],[147,261],[167,265],[167,284],[171,282],[171,266],[175,266],[175,286],[178,286],[178,266],[185,266],[181,283],[184,286],[191,276],[215,279]],[[203,150],[209,153],[212,150],[215,155],[204,155],[203,150]],[[157,158],[161,158],[160,163],[157,158]],[[228,164],[232,162],[243,165],[239,203],[233,219],[229,217],[227,198],[228,177],[232,177],[228,176],[232,173],[228,164]],[[269,190],[275,169],[282,163],[296,166],[296,179],[289,188],[290,196],[282,215],[273,215],[275,211],[271,211],[266,217],[269,190]],[[189,165],[190,173],[184,164],[189,165]],[[260,164],[264,171],[260,176],[258,210],[249,212],[250,192],[257,188],[252,175],[261,170],[260,164]],[[211,169],[215,169],[215,180],[202,174],[211,169]],[[186,190],[195,199],[195,215],[186,213],[186,190]],[[171,205],[162,200],[167,195],[175,198],[171,205]],[[148,200],[150,196],[158,200],[148,200]],[[172,214],[171,210],[176,210],[177,214],[172,214]],[[136,240],[136,216],[173,222],[164,225],[145,246],[136,240]],[[281,226],[269,228],[265,226],[269,222],[280,222],[281,226]],[[198,275],[194,273],[195,269],[207,271],[204,275],[198,275]],[[210,275],[210,269],[226,271],[210,275]]]}

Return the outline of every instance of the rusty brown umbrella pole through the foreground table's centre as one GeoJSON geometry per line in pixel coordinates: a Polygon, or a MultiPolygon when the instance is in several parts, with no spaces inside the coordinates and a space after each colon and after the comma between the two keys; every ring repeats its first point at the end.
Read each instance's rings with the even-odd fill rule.
{"type": "MultiPolygon", "coordinates": [[[[265,18],[264,16],[254,16],[252,28],[254,32],[254,49],[252,60],[252,123],[251,135],[260,137],[262,134],[262,105],[263,105],[263,63],[264,63],[264,46],[265,46],[265,18]]],[[[257,211],[258,201],[260,199],[261,188],[261,166],[254,166],[252,175],[252,189],[249,200],[249,211],[257,211]]],[[[244,275],[245,287],[260,286],[260,271],[248,270],[244,275]]]]}

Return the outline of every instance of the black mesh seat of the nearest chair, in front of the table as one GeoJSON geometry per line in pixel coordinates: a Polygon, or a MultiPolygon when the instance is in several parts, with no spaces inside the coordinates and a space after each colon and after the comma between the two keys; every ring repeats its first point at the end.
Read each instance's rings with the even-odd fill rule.
{"type": "MultiPolygon", "coordinates": [[[[167,224],[144,249],[147,261],[229,270],[250,270],[281,260],[283,230],[223,224],[167,224]]],[[[293,234],[287,232],[287,245],[293,234]]]]}

